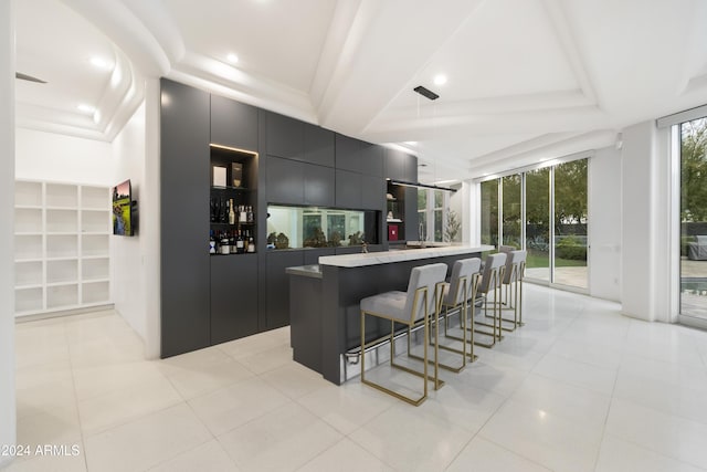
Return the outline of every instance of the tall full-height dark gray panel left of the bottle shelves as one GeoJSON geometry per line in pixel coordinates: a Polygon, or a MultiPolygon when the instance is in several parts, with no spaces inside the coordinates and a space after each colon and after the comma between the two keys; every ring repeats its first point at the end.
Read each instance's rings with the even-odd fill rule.
{"type": "Polygon", "coordinates": [[[210,344],[209,94],[161,80],[161,357],[210,344]]]}

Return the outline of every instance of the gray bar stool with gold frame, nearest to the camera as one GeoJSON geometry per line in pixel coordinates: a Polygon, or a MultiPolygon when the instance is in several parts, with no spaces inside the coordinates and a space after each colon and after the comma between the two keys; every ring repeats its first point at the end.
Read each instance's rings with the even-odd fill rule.
{"type": "MultiPolygon", "coordinates": [[[[435,389],[443,382],[439,378],[439,356],[435,343],[434,377],[428,375],[428,337],[430,333],[430,317],[439,315],[439,302],[441,300],[442,284],[446,275],[447,266],[443,263],[428,264],[413,268],[410,272],[407,292],[386,292],[379,295],[368,296],[360,302],[361,310],[361,382],[378,390],[384,391],[395,398],[419,406],[428,398],[428,380],[433,380],[435,389]],[[380,384],[366,379],[366,315],[390,319],[390,365],[409,374],[422,377],[423,394],[420,398],[411,398],[399,394],[380,384]],[[409,367],[394,363],[394,324],[400,323],[410,329],[418,322],[422,322],[424,329],[423,344],[423,371],[416,371],[409,367]]],[[[410,339],[410,337],[408,338],[410,339]]]]}

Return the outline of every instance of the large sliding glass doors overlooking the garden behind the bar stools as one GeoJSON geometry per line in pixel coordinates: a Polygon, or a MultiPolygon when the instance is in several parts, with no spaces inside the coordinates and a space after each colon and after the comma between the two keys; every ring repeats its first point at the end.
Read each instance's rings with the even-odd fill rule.
{"type": "Polygon", "coordinates": [[[482,182],[482,243],[526,249],[530,279],[587,289],[587,170],[580,159],[482,182]]]}

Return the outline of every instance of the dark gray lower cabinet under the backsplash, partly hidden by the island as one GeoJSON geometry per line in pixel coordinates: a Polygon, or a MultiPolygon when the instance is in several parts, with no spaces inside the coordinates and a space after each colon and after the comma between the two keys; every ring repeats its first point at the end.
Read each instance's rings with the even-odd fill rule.
{"type": "Polygon", "coordinates": [[[271,251],[267,253],[267,307],[265,329],[289,324],[289,275],[286,268],[304,264],[303,251],[271,251]]]}

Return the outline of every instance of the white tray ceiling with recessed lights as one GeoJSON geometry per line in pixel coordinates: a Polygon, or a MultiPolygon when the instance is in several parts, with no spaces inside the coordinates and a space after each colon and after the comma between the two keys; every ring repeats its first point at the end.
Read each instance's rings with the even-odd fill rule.
{"type": "Polygon", "coordinates": [[[17,81],[18,125],[96,139],[119,132],[144,77],[167,76],[407,147],[430,182],[610,146],[626,125],[707,103],[703,0],[15,4],[17,70],[49,82],[17,81]]]}

